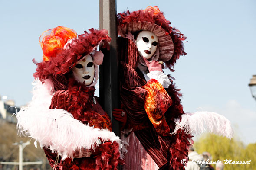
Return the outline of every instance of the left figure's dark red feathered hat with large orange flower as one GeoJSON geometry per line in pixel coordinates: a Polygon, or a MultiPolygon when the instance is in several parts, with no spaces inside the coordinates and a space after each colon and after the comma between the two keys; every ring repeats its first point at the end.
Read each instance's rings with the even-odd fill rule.
{"type": "Polygon", "coordinates": [[[108,37],[108,31],[105,29],[89,29],[89,33],[85,31],[84,34],[75,38],[76,32],[74,30],[60,26],[56,28],[46,31],[50,34],[47,33],[46,35],[46,32],[43,32],[44,37],[40,36],[43,61],[36,63],[37,68],[33,76],[39,78],[41,82],[49,77],[68,73],[77,61],[95,51],[101,42],[103,48],[109,48],[108,43],[111,38],[108,37]],[[55,31],[56,28],[58,28],[57,32],[55,31]]]}

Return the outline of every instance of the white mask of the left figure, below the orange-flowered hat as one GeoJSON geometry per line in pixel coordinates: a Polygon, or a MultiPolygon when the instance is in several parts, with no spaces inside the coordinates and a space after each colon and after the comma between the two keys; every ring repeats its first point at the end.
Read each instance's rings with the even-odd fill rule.
{"type": "Polygon", "coordinates": [[[95,68],[91,55],[86,55],[72,68],[75,80],[88,86],[94,80],[95,68]]]}

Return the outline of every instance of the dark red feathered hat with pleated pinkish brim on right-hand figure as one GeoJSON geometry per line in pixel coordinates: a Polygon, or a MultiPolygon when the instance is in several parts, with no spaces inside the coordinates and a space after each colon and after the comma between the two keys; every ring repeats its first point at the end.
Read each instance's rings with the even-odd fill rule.
{"type": "Polygon", "coordinates": [[[183,42],[187,37],[179,30],[171,27],[157,6],[148,6],[145,10],[129,10],[118,13],[118,34],[125,37],[129,32],[141,30],[151,31],[158,36],[159,61],[164,61],[167,67],[173,66],[180,55],[186,55],[183,42]]]}

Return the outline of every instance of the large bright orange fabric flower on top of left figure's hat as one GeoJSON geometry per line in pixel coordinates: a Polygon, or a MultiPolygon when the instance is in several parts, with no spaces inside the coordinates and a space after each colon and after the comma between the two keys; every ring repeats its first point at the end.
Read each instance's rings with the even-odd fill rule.
{"type": "Polygon", "coordinates": [[[69,39],[76,38],[77,33],[73,29],[57,26],[48,29],[39,37],[43,50],[43,61],[49,61],[61,51],[69,39]]]}

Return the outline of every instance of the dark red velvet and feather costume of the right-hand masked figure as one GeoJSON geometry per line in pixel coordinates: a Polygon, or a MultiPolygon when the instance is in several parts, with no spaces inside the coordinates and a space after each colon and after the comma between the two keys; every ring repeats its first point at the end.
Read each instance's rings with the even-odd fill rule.
{"type": "MultiPolygon", "coordinates": [[[[152,117],[148,117],[144,108],[147,92],[143,88],[150,82],[146,82],[137,68],[139,54],[135,43],[128,38],[118,37],[118,58],[121,103],[124,104],[127,112],[126,128],[132,129],[159,169],[184,170],[181,160],[188,160],[187,152],[190,145],[188,139],[191,135],[181,131],[175,135],[166,135],[166,133],[163,135],[161,131],[166,130],[166,127],[156,127],[151,123],[152,117]]],[[[171,79],[170,81],[172,82],[171,79]]],[[[179,98],[181,93],[175,89],[175,84],[172,83],[166,91],[172,103],[160,118],[166,120],[171,133],[175,128],[174,119],[180,118],[184,111],[179,98]]],[[[155,100],[161,103],[157,101],[159,99],[155,98],[155,100]]]]}

